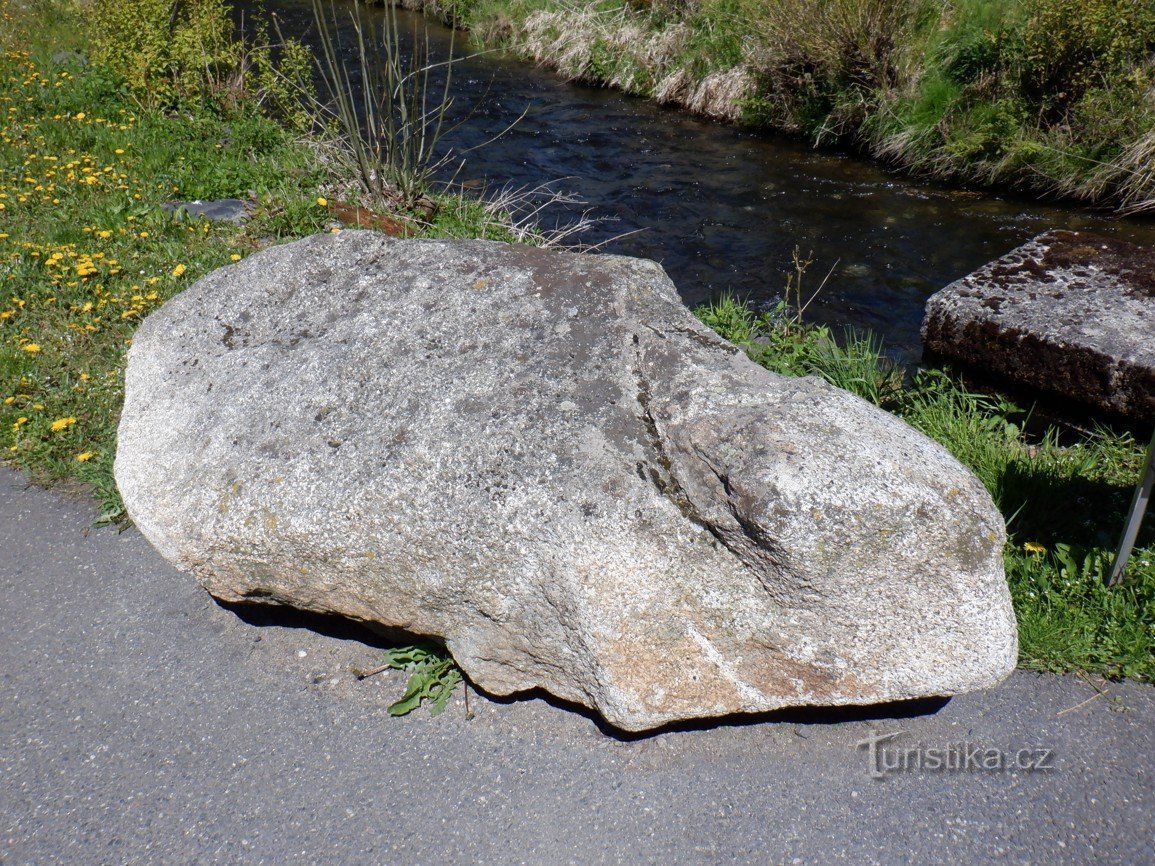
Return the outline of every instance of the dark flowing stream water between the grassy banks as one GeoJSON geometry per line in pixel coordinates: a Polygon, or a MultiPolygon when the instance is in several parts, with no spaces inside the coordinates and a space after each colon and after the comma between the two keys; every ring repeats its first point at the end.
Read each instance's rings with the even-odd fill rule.
{"type": "MultiPolygon", "coordinates": [[[[286,32],[315,37],[312,7],[278,0],[286,32]]],[[[338,2],[342,15],[351,3],[338,2]]],[[[380,13],[375,13],[380,14],[380,13]]],[[[403,32],[429,27],[447,57],[449,29],[398,12],[403,32]]],[[[445,140],[477,145],[471,186],[557,186],[580,193],[603,222],[583,236],[605,252],[661,262],[690,305],[731,292],[759,305],[782,294],[791,253],[813,260],[807,318],[880,336],[917,360],[923,305],[938,289],[1048,229],[1095,231],[1155,245],[1155,222],[952,189],[887,173],[849,154],[705,121],[648,100],[567,84],[499,53],[467,57],[457,35],[453,113],[445,140]]],[[[351,44],[351,40],[346,40],[351,44]]]]}

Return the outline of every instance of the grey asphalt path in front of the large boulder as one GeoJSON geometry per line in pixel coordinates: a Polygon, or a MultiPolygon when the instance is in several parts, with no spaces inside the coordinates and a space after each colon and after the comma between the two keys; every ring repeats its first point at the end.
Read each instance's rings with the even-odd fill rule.
{"type": "Polygon", "coordinates": [[[539,697],[392,718],[403,674],[349,671],[372,637],[241,618],[94,515],[0,471],[5,864],[1155,861],[1148,686],[633,738],[539,697]]]}

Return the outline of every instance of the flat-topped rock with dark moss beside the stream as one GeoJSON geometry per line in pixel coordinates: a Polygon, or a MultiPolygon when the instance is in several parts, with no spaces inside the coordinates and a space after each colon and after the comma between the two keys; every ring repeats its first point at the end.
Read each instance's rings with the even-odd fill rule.
{"type": "Polygon", "coordinates": [[[1041,234],[932,296],[923,344],[1052,395],[1155,419],[1155,251],[1041,234]]]}

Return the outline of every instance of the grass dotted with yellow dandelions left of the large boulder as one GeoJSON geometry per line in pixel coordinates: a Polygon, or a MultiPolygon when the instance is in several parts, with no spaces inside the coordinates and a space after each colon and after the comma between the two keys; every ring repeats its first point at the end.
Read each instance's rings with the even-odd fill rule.
{"type": "MultiPolygon", "coordinates": [[[[214,268],[333,230],[328,199],[351,184],[329,149],[260,99],[176,87],[162,99],[155,81],[134,88],[69,53],[92,43],[87,12],[8,2],[0,16],[0,456],[40,480],[91,485],[117,520],[116,425],[136,324],[214,268]],[[247,222],[163,207],[228,197],[248,202],[247,222]]],[[[479,202],[437,203],[432,223],[408,225],[511,237],[479,202]]]]}

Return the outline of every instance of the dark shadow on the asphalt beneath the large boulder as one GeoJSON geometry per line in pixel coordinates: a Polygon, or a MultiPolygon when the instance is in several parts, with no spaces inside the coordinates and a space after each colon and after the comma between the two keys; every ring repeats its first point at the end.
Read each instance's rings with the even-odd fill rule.
{"type": "MultiPolygon", "coordinates": [[[[256,628],[280,627],[280,628],[304,628],[326,637],[342,641],[358,641],[373,649],[388,649],[389,647],[403,645],[420,642],[441,643],[435,637],[415,635],[401,629],[381,629],[368,627],[355,620],[334,614],[307,613],[292,607],[284,607],[275,604],[260,603],[224,603],[217,602],[221,607],[234,613],[256,628]]],[[[483,688],[478,688],[472,680],[469,687],[487,700],[500,704],[512,704],[520,701],[541,700],[551,707],[575,712],[590,721],[606,737],[611,737],[623,742],[636,742],[666,733],[686,733],[693,731],[709,731],[720,727],[748,727],[767,723],[792,724],[792,725],[833,725],[840,722],[870,722],[875,719],[901,719],[915,718],[918,716],[933,716],[949,703],[949,697],[921,697],[911,701],[892,701],[888,703],[875,703],[865,707],[791,707],[788,709],[773,710],[769,712],[746,712],[731,716],[720,716],[716,718],[694,719],[690,722],[675,722],[669,725],[655,727],[649,731],[623,731],[608,723],[588,707],[580,703],[566,701],[551,695],[541,688],[529,692],[519,692],[514,695],[492,695],[483,688]]]]}

